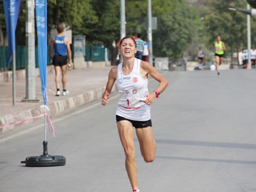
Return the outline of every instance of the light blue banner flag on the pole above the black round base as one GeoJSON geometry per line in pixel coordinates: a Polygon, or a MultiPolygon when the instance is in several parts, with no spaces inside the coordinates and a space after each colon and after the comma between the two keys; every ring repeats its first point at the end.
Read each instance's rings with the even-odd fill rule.
{"type": "Polygon", "coordinates": [[[47,105],[47,0],[35,1],[41,92],[47,105]]]}

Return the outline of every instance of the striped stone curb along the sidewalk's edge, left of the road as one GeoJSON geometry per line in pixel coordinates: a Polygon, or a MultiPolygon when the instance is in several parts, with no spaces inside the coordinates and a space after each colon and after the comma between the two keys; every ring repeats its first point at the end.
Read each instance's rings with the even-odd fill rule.
{"type": "MultiPolygon", "coordinates": [[[[66,99],[62,99],[59,101],[49,102],[48,103],[48,108],[50,110],[49,116],[53,117],[53,116],[58,115],[64,111],[74,109],[77,106],[81,106],[83,104],[97,100],[102,97],[104,90],[105,90],[105,87],[101,87],[98,89],[91,90],[87,93],[75,95],[75,96],[68,97],[66,99]]],[[[114,84],[112,92],[116,92],[116,91],[117,91],[117,85],[114,84]]],[[[25,110],[25,111],[22,111],[22,112],[19,112],[16,114],[8,114],[8,115],[0,116],[0,125],[17,122],[17,121],[25,120],[25,119],[31,119],[31,118],[39,116],[41,114],[44,114],[44,110],[41,109],[40,106],[37,106],[35,108],[25,110]]],[[[36,119],[33,119],[33,120],[30,120],[30,121],[27,121],[24,123],[28,124],[35,120],[36,119]]],[[[11,130],[15,129],[15,127],[17,127],[18,125],[19,124],[6,126],[3,129],[0,129],[0,134],[7,132],[7,131],[11,131],[11,130]]]]}

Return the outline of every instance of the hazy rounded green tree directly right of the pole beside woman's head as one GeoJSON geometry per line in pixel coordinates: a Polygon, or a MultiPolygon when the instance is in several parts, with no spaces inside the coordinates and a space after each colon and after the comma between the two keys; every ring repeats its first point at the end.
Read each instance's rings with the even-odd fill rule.
{"type": "Polygon", "coordinates": [[[160,6],[158,29],[153,32],[155,56],[182,57],[197,31],[198,17],[193,7],[184,0],[175,1],[168,10],[160,6]]]}

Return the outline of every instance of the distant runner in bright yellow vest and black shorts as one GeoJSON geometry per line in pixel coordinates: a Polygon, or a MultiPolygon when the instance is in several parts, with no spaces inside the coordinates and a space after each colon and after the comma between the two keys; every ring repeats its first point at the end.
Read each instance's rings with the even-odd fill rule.
{"type": "Polygon", "coordinates": [[[216,70],[218,75],[220,75],[219,66],[223,61],[224,51],[226,46],[223,41],[221,41],[221,36],[217,36],[217,41],[214,42],[214,52],[215,52],[215,61],[216,61],[216,70]]]}

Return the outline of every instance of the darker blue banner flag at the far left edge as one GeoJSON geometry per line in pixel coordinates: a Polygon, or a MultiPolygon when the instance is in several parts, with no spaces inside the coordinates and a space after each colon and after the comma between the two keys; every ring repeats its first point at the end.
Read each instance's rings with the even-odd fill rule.
{"type": "Polygon", "coordinates": [[[8,66],[12,61],[12,52],[15,51],[15,30],[18,20],[20,0],[4,0],[5,23],[8,38],[8,66]]]}

